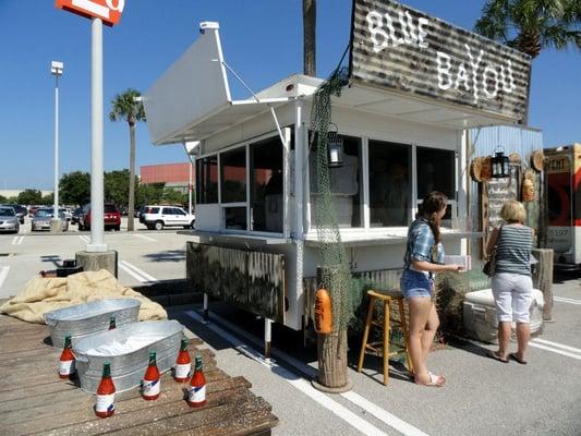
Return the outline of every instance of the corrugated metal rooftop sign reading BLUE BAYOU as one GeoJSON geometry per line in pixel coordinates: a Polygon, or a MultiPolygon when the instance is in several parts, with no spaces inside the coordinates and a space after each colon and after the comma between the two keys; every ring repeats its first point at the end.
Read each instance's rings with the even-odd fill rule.
{"type": "Polygon", "coordinates": [[[353,82],[522,122],[531,59],[391,0],[354,0],[353,82]]]}

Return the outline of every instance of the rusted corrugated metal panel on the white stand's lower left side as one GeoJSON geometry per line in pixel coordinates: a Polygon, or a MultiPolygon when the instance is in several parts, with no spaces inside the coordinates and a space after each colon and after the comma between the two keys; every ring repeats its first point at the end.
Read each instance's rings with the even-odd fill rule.
{"type": "Polygon", "coordinates": [[[285,322],[285,255],[189,242],[186,270],[195,291],[285,322]]]}

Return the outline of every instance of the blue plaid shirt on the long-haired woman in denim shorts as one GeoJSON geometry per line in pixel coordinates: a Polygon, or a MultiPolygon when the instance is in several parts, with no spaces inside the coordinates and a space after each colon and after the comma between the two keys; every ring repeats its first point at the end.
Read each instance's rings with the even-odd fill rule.
{"type": "MultiPolygon", "coordinates": [[[[429,262],[432,264],[444,264],[444,245],[438,242],[436,253],[434,250],[434,233],[425,218],[417,218],[408,229],[408,247],[403,263],[406,269],[410,269],[413,261],[429,262]]],[[[413,269],[413,268],[411,268],[413,269]]]]}

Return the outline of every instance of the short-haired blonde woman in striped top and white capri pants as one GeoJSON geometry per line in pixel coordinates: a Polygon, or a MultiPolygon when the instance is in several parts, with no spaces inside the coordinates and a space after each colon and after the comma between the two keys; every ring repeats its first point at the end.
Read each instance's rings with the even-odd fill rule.
{"type": "Polygon", "coordinates": [[[486,252],[496,245],[496,268],[493,276],[493,294],[498,320],[498,350],[488,356],[507,363],[508,358],[525,364],[524,353],[531,337],[530,307],[533,295],[531,279],[531,250],[534,231],[523,226],[526,211],[516,201],[509,201],[500,209],[505,225],[493,230],[486,252]],[[511,323],[517,323],[516,353],[507,354],[511,323]]]}

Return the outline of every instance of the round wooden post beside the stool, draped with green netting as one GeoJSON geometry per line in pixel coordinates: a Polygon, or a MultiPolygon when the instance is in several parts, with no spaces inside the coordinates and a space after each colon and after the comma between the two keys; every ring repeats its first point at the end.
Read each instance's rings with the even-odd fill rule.
{"type": "MultiPolygon", "coordinates": [[[[317,286],[323,286],[325,275],[332,268],[317,267],[317,286]]],[[[332,290],[328,289],[332,298],[332,290]]],[[[335,314],[334,314],[335,316],[335,314]]],[[[334,322],[335,325],[335,322],[334,322]]],[[[347,328],[334,328],[329,335],[317,334],[318,375],[313,386],[325,392],[346,392],[353,387],[347,373],[347,328]]]]}

